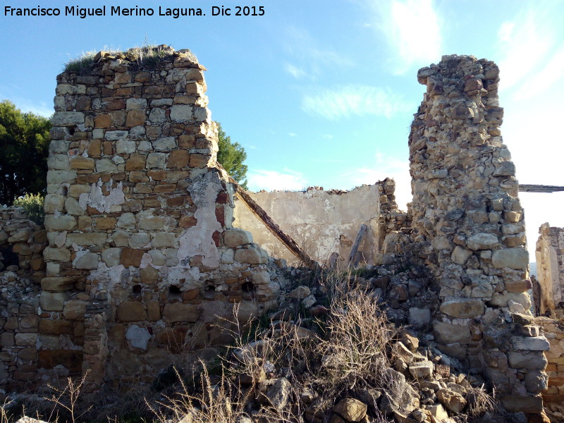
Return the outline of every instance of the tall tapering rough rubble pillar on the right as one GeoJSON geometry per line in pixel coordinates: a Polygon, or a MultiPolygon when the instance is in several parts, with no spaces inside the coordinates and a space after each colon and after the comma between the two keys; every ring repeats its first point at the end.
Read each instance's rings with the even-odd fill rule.
{"type": "Polygon", "coordinates": [[[482,369],[506,407],[539,413],[548,341],[532,324],[515,166],[503,144],[499,69],[443,56],[410,133],[415,257],[439,284],[441,350],[482,369]]]}

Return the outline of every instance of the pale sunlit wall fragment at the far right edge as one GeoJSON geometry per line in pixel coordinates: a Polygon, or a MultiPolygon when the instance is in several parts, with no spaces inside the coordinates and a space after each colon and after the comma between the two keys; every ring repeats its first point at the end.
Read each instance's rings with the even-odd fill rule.
{"type": "Polygon", "coordinates": [[[553,318],[564,318],[564,228],[544,223],[537,240],[539,310],[553,318]]]}

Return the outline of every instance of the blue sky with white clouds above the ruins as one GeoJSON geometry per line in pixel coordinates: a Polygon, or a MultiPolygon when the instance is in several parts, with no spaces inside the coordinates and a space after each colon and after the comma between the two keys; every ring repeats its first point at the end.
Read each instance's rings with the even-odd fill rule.
{"type": "MultiPolygon", "coordinates": [[[[407,133],[424,92],[417,69],[473,54],[501,67],[502,133],[520,182],[564,185],[564,1],[132,0],[120,5],[207,16],[4,16],[5,6],[77,4],[111,6],[0,3],[0,99],[48,116],[56,75],[82,51],[190,48],[208,68],[212,117],[247,150],[250,188],[350,189],[391,176],[403,207],[407,133]],[[265,14],[211,16],[237,5],[265,14]]],[[[521,197],[534,250],[541,223],[564,226],[564,193],[521,197]]]]}

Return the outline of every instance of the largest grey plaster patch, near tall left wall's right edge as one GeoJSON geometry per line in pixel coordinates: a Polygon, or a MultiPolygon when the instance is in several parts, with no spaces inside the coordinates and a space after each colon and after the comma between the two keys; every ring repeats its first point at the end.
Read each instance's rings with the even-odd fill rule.
{"type": "Polygon", "coordinates": [[[221,187],[221,181],[216,172],[207,172],[197,176],[188,187],[192,202],[197,206],[194,214],[196,226],[186,229],[180,235],[178,261],[186,266],[190,257],[202,255],[202,264],[211,268],[219,266],[219,252],[212,236],[221,231],[221,223],[216,219],[216,198],[221,187]]]}

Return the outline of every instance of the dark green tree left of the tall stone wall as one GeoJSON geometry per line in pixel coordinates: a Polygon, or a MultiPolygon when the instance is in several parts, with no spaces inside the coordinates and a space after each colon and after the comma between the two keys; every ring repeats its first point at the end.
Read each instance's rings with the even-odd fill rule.
{"type": "Polygon", "coordinates": [[[0,102],[0,204],[44,192],[51,121],[0,102]]]}

